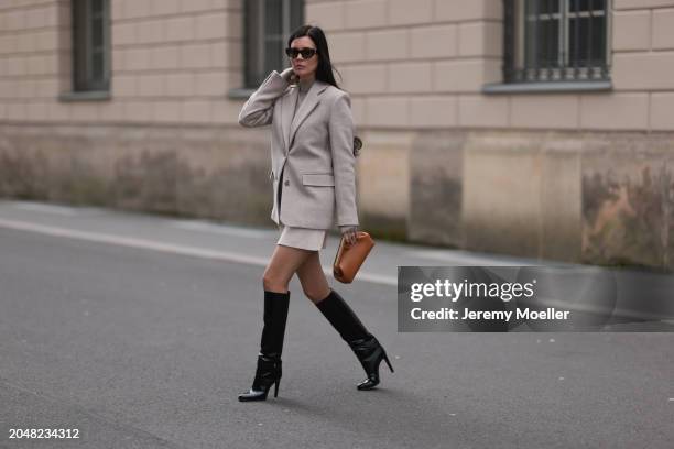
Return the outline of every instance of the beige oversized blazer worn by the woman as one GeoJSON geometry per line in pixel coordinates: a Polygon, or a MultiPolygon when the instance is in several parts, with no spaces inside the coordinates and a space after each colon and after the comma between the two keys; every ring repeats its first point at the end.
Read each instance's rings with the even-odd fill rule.
{"type": "Polygon", "coordinates": [[[337,226],[357,226],[350,97],[315,79],[293,119],[297,91],[298,87],[272,70],[239,113],[243,127],[272,125],[271,219],[276,225],[281,219],[291,227],[329,229],[336,213],[337,226]],[[283,195],[279,205],[282,169],[283,195]]]}

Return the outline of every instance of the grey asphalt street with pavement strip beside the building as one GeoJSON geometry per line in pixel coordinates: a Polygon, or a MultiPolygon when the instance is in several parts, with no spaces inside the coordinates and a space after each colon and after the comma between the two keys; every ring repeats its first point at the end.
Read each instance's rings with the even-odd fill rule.
{"type": "Polygon", "coordinates": [[[412,245],[331,284],[391,357],[378,390],[293,280],[279,397],[239,403],[274,237],[0,201],[0,447],[674,447],[673,333],[398,332],[396,265],[525,262],[412,245]]]}

